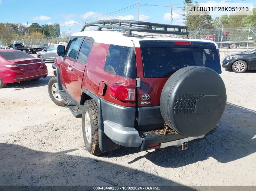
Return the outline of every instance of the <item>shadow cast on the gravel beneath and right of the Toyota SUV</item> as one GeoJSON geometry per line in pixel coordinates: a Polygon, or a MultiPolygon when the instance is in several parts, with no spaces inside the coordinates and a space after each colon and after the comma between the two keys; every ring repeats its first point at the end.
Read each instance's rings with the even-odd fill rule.
{"type": "MultiPolygon", "coordinates": [[[[218,162],[227,163],[253,154],[256,151],[256,112],[227,103],[226,110],[218,128],[212,135],[188,143],[189,148],[179,151],[177,147],[167,147],[157,151],[154,155],[145,154],[129,163],[141,158],[147,158],[161,167],[182,167],[209,157],[218,162]]],[[[135,148],[119,148],[104,154],[105,157],[124,156],[139,152],[135,148]]]]}

